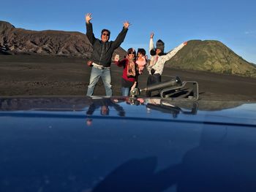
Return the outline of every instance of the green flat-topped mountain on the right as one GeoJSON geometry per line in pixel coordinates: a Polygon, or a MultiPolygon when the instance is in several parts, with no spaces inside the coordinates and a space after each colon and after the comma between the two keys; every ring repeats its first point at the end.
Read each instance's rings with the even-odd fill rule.
{"type": "Polygon", "coordinates": [[[223,74],[256,77],[256,65],[234,53],[219,41],[191,40],[165,66],[223,74]]]}

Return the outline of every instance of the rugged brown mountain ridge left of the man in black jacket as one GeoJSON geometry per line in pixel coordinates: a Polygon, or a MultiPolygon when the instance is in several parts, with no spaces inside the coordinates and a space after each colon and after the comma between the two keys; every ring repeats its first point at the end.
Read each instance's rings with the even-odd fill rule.
{"type": "MultiPolygon", "coordinates": [[[[80,32],[31,31],[0,21],[0,52],[89,58],[92,47],[86,34],[80,32]]],[[[118,47],[115,53],[123,57],[126,52],[118,47]]]]}

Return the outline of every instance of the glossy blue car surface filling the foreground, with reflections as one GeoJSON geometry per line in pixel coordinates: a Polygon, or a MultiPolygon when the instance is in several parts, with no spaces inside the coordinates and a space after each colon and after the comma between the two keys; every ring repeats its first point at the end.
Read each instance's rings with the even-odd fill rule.
{"type": "Polygon", "coordinates": [[[0,191],[255,191],[256,104],[0,99],[0,191]]]}

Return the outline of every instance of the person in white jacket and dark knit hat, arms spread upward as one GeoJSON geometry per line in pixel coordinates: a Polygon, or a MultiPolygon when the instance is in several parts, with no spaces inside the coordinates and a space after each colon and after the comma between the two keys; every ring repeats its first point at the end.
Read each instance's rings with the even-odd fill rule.
{"type": "MultiPolygon", "coordinates": [[[[159,39],[157,41],[157,47],[154,48],[153,37],[154,33],[151,34],[149,41],[149,52],[151,55],[151,60],[150,64],[148,65],[149,76],[147,80],[147,86],[157,82],[161,82],[161,75],[164,69],[165,61],[168,61],[170,58],[176,55],[178,50],[181,50],[182,47],[187,45],[187,42],[183,42],[181,43],[181,45],[178,45],[178,47],[165,54],[165,43],[162,42],[161,39],[159,39]]],[[[151,91],[147,91],[146,96],[151,96],[151,91]]]]}

